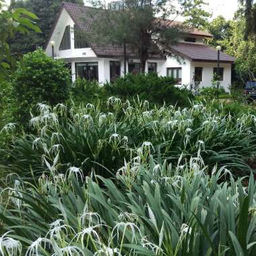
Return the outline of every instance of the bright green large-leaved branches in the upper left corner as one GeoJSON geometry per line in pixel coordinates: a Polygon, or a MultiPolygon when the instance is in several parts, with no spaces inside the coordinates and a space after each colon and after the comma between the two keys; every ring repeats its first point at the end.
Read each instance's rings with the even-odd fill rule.
{"type": "Polygon", "coordinates": [[[13,11],[3,9],[5,1],[0,0],[0,81],[15,67],[15,58],[11,55],[8,41],[20,33],[22,36],[30,31],[41,32],[36,26],[37,16],[24,8],[13,11]]]}

